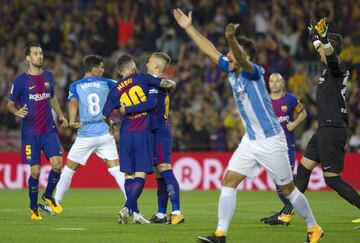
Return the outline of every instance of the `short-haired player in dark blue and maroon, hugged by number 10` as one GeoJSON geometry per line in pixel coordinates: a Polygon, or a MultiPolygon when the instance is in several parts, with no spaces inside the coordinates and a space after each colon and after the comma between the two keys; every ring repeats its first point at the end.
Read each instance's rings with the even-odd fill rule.
{"type": "MultiPolygon", "coordinates": [[[[146,64],[148,73],[155,77],[163,76],[164,70],[169,66],[171,58],[163,52],[151,54],[146,64]]],[[[170,224],[180,224],[184,222],[184,216],[180,211],[180,188],[179,183],[171,168],[171,146],[172,136],[168,121],[170,98],[169,91],[158,89],[158,102],[156,108],[151,112],[152,134],[154,139],[153,153],[155,176],[158,185],[158,212],[150,219],[151,223],[166,223],[166,208],[168,199],[172,204],[170,224]]],[[[149,101],[148,101],[149,102],[149,101]]],[[[146,103],[141,103],[131,107],[132,112],[138,113],[148,109],[146,103]]],[[[127,108],[125,108],[126,110],[127,108]]]]}

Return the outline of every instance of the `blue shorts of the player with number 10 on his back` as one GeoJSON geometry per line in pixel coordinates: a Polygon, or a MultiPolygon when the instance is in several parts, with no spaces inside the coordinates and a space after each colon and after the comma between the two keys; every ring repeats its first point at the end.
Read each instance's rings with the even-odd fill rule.
{"type": "Polygon", "coordinates": [[[152,144],[150,131],[120,132],[120,171],[152,173],[152,144]]]}

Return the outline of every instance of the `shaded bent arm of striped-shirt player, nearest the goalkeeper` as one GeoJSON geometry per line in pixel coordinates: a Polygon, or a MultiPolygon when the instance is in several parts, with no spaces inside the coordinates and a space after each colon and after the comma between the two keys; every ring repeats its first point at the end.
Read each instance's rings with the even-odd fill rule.
{"type": "Polygon", "coordinates": [[[239,24],[228,24],[225,30],[225,38],[229,43],[230,50],[232,51],[234,58],[237,63],[243,68],[247,73],[253,72],[253,66],[248,58],[248,55],[244,49],[239,45],[235,38],[235,31],[239,24]]]}

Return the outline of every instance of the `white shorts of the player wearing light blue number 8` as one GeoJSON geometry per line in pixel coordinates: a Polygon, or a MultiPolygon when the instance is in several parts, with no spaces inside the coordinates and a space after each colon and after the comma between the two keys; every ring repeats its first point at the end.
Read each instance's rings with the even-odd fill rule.
{"type": "Polygon", "coordinates": [[[69,151],[68,159],[85,165],[93,152],[104,160],[119,159],[115,140],[109,133],[100,137],[77,137],[69,151]]]}

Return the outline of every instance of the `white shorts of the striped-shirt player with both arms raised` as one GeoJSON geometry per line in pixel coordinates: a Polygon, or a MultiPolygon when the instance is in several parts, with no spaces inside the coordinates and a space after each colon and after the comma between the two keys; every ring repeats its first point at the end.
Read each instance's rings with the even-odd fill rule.
{"type": "Polygon", "coordinates": [[[277,185],[286,185],[293,180],[283,131],[261,140],[249,140],[243,136],[227,169],[254,179],[261,167],[266,169],[277,185]]]}

